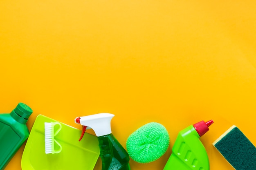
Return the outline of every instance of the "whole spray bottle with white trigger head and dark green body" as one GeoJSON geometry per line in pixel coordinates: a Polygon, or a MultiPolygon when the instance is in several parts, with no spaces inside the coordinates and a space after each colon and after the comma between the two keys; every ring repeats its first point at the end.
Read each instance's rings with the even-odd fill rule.
{"type": "Polygon", "coordinates": [[[129,155],[112,135],[110,121],[114,115],[99,113],[76,117],[75,123],[83,125],[79,141],[86,129],[92,128],[98,138],[102,170],[130,170],[129,155]]]}

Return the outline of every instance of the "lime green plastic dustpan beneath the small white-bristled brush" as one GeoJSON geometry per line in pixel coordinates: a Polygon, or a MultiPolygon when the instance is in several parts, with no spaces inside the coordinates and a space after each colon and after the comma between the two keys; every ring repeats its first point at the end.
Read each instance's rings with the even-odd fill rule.
{"type": "Polygon", "coordinates": [[[99,158],[99,141],[96,136],[85,133],[78,141],[81,130],[63,124],[54,137],[62,146],[57,154],[45,154],[45,122],[54,119],[38,115],[31,129],[22,159],[22,170],[93,170],[99,158]]]}

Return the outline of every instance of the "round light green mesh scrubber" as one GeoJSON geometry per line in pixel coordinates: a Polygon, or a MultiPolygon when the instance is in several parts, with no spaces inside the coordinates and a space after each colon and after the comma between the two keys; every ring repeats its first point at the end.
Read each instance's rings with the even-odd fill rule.
{"type": "Polygon", "coordinates": [[[159,123],[151,122],[135,130],[126,141],[126,149],[134,161],[149,163],[159,159],[170,143],[166,128],[159,123]]]}

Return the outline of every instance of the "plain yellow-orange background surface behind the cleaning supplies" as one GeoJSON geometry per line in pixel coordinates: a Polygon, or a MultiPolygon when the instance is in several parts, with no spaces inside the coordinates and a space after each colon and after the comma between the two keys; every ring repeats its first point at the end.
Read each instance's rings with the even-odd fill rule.
{"type": "MultiPolygon", "coordinates": [[[[212,142],[234,124],[256,144],[255,9],[254,0],[1,0],[1,113],[29,105],[29,130],[38,114],[81,128],[77,116],[112,113],[124,147],[161,123],[168,151],[130,160],[132,170],[162,170],[177,133],[213,119],[201,137],[211,170],[233,170],[212,142]]],[[[6,170],[21,169],[24,146],[6,170]]]]}

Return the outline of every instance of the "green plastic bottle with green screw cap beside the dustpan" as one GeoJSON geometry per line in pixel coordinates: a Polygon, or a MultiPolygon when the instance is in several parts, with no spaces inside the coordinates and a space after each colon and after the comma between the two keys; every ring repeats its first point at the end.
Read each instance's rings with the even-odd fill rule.
{"type": "Polygon", "coordinates": [[[19,103],[11,113],[0,114],[0,170],[3,170],[29,137],[26,126],[32,109],[19,103]]]}

